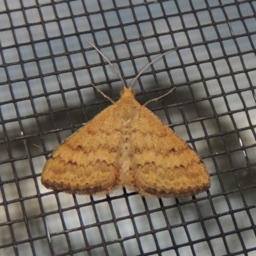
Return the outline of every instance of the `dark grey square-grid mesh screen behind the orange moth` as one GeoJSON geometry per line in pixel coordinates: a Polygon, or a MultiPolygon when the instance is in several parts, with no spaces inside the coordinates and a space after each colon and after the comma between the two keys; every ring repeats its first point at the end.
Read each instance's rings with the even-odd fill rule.
{"type": "Polygon", "coordinates": [[[0,1],[0,255],[255,255],[255,1],[0,1]],[[230,29],[231,28],[231,29],[230,29]],[[54,193],[46,158],[122,84],[187,140],[207,193],[141,198],[54,193]]]}

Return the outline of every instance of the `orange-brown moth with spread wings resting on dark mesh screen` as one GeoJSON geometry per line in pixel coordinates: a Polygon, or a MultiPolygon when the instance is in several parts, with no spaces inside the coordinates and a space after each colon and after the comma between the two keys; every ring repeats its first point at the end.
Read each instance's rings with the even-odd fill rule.
{"type": "Polygon", "coordinates": [[[113,105],[54,150],[44,166],[42,184],[79,195],[109,194],[127,186],[141,196],[159,198],[196,195],[209,189],[210,177],[202,159],[152,111],[141,106],[132,90],[141,74],[168,52],[148,63],[127,87],[115,65],[86,41],[115,70],[124,88],[117,102],[100,92],[113,105]]]}

